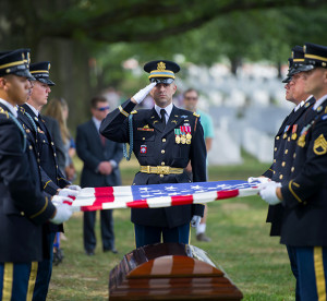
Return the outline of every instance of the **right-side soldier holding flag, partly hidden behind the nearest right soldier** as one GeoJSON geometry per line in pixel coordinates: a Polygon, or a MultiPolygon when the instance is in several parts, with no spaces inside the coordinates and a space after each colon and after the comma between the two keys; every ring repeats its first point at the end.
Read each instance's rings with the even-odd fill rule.
{"type": "MultiPolygon", "coordinates": [[[[293,160],[296,147],[296,140],[303,127],[311,120],[311,109],[315,99],[311,94],[304,92],[304,64],[303,47],[292,48],[292,58],[289,59],[289,72],[282,81],[286,83],[286,99],[295,105],[294,109],[286,117],[275,136],[274,161],[270,168],[259,178],[265,181],[267,178],[276,182],[289,181],[294,171],[293,160]]],[[[271,222],[270,236],[280,236],[283,206],[281,204],[269,205],[267,222],[271,222]]],[[[296,278],[296,300],[299,299],[298,268],[295,253],[292,246],[287,245],[291,268],[296,278]]]]}

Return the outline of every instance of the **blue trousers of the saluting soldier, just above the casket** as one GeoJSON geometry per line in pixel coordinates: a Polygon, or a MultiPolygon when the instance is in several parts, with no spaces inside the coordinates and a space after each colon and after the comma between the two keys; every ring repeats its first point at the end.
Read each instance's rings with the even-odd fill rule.
{"type": "Polygon", "coordinates": [[[190,243],[190,222],[174,227],[153,227],[134,224],[136,248],[164,242],[190,243]]]}

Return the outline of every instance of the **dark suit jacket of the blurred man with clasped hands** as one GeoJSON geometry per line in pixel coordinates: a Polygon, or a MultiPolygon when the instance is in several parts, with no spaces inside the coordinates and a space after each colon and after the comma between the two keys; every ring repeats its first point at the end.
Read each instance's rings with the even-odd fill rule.
{"type": "Polygon", "coordinates": [[[76,150],[84,166],[81,176],[81,185],[99,188],[121,185],[119,162],[123,157],[121,143],[106,140],[105,145],[100,141],[100,134],[93,120],[77,128],[76,150]],[[101,161],[114,160],[117,167],[108,176],[97,172],[101,161]]]}

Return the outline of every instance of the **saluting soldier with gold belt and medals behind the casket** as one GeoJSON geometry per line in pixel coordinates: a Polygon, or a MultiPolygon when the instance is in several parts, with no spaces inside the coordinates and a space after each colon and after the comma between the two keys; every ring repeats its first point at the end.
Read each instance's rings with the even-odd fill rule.
{"type": "MultiPolygon", "coordinates": [[[[110,112],[100,133],[116,142],[130,143],[140,171],[133,184],[191,182],[184,168],[191,160],[193,181],[206,181],[206,146],[199,116],[172,105],[177,91],[175,73],[180,67],[171,61],[152,61],[144,65],[150,84],[110,112]],[[155,100],[153,109],[133,111],[147,94],[155,100]]],[[[136,248],[164,242],[189,243],[190,221],[199,222],[203,205],[168,208],[133,208],[136,248]]]]}

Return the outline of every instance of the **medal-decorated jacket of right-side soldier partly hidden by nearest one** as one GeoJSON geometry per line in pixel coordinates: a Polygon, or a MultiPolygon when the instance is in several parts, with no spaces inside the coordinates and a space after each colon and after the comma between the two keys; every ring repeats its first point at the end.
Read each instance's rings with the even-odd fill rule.
{"type": "MultiPolygon", "coordinates": [[[[275,136],[274,162],[264,176],[269,176],[272,181],[284,183],[291,179],[294,171],[293,154],[296,140],[302,128],[312,119],[311,109],[315,99],[310,98],[305,105],[292,112],[284,119],[275,136]]],[[[269,206],[267,222],[271,222],[270,236],[280,236],[283,207],[281,204],[269,206]]]]}

